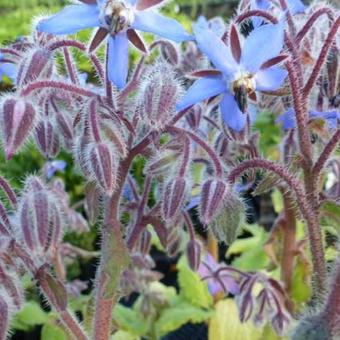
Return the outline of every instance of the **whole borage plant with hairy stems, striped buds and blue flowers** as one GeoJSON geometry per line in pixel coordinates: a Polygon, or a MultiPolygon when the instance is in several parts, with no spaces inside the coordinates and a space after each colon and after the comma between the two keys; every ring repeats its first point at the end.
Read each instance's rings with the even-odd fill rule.
{"type": "Polygon", "coordinates": [[[201,17],[191,35],[158,13],[161,2],[81,0],[38,20],[30,37],[0,49],[1,75],[14,82],[14,91],[1,99],[6,159],[33,139],[47,160],[19,193],[0,178],[7,196],[0,204],[0,338],[24,304],[21,281],[27,273],[72,338],[109,339],[124,319],[117,317],[117,303],[131,292],[141,297],[134,309],[142,316],[136,318],[148,323],[139,336],[159,338],[165,331],[155,325],[171,316],[162,313],[176,304],[180,313],[179,306],[191,306],[188,301],[205,313],[188,320],[209,320],[211,297],[183,304],[175,293],[155,289],[160,276],[152,270],[150,249],[156,243],[169,256],[183,251],[203,280],[190,276],[181,260],[184,300],[196,284],[197,292],[208,287],[215,306],[232,294],[228,301],[236,303],[241,322],[269,323],[294,339],[338,338],[340,267],[334,252],[326,257],[332,244],[324,237],[339,221],[340,164],[333,158],[340,141],[337,11],[319,1],[305,7],[299,0],[244,0],[229,22],[201,17]],[[64,36],[85,28],[96,28],[88,44],[64,36]],[[137,31],[170,41],[147,46],[137,31]],[[104,40],[104,53],[96,52],[104,40]],[[129,41],[142,52],[130,69],[129,41]],[[94,84],[78,71],[74,50],[88,57],[94,84]],[[266,112],[277,118],[261,130],[266,112]],[[283,138],[269,153],[261,142],[275,125],[283,138]],[[54,178],[65,167],[53,160],[60,149],[72,153],[83,174],[85,199],[78,206],[87,221],[54,178]],[[143,178],[136,167],[143,168],[143,178]],[[246,224],[244,197],[269,191],[282,207],[268,235],[246,224]],[[207,241],[195,231],[199,222],[208,230],[207,241]],[[99,229],[100,264],[81,322],[69,300],[86,286],[67,282],[65,258],[96,254],[63,235],[68,228],[83,232],[88,224],[99,229]],[[249,263],[241,260],[217,261],[217,241],[231,245],[228,252],[245,251],[245,243],[238,246],[244,240],[235,241],[243,231],[254,234],[248,241],[257,240],[254,247],[270,258],[264,267],[257,263],[258,270],[242,269],[249,263]],[[308,274],[299,276],[301,282],[296,275],[310,260],[314,312],[305,305],[309,296],[296,296],[297,286],[309,287],[308,274]],[[334,274],[327,260],[335,263],[334,274]],[[188,277],[193,286],[185,292],[188,277]]]}

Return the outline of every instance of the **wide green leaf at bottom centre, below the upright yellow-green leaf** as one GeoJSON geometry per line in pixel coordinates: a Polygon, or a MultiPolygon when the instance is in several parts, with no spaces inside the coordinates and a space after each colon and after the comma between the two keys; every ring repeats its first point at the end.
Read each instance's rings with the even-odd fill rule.
{"type": "Polygon", "coordinates": [[[156,322],[156,332],[159,336],[163,336],[188,322],[200,323],[208,320],[211,315],[211,311],[182,302],[163,311],[161,317],[156,322]]]}

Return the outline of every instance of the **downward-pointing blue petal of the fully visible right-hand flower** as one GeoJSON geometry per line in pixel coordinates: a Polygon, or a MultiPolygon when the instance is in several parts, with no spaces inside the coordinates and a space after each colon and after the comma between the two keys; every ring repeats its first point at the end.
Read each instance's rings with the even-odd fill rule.
{"type": "Polygon", "coordinates": [[[247,115],[239,109],[234,97],[226,92],[223,96],[220,109],[223,122],[236,131],[241,131],[246,125],[247,115]]]}

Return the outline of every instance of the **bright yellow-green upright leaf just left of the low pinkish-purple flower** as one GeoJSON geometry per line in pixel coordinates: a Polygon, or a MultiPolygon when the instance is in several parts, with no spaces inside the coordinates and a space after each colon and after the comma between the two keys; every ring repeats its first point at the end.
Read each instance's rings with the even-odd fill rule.
{"type": "Polygon", "coordinates": [[[182,257],[177,265],[180,296],[197,307],[209,308],[213,304],[208,285],[200,276],[193,272],[182,257]]]}

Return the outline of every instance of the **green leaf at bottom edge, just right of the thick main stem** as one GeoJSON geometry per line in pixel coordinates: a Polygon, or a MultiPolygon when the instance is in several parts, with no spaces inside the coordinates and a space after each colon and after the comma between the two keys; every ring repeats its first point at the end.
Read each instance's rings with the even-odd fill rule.
{"type": "Polygon", "coordinates": [[[120,329],[133,335],[145,335],[149,329],[149,324],[140,311],[124,307],[121,304],[117,304],[113,310],[113,320],[120,329]]]}

